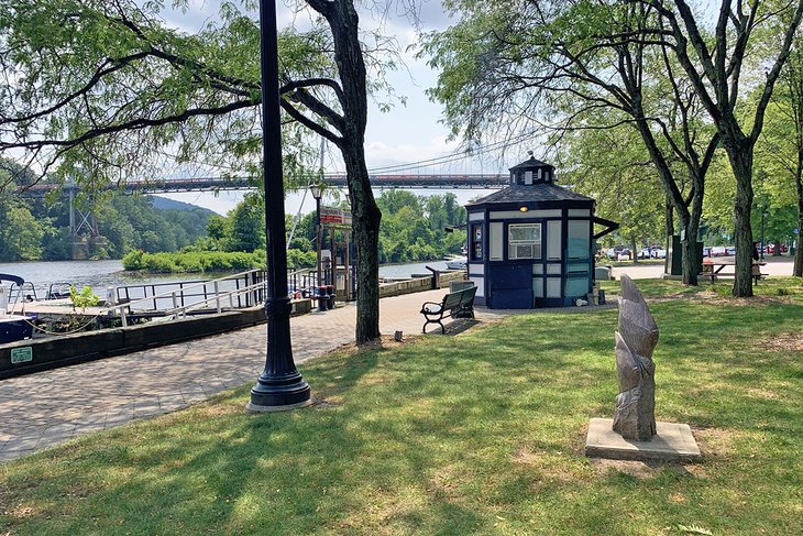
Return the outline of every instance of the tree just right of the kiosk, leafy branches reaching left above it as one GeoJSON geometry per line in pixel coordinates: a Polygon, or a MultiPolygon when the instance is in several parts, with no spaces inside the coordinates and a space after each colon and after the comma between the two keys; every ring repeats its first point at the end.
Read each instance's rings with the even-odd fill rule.
{"type": "Polygon", "coordinates": [[[704,177],[718,134],[701,121],[676,62],[654,46],[656,10],[597,0],[448,6],[462,19],[431,34],[425,53],[441,70],[432,96],[446,105],[454,132],[630,125],[685,231],[683,282],[696,284],[704,177]]]}

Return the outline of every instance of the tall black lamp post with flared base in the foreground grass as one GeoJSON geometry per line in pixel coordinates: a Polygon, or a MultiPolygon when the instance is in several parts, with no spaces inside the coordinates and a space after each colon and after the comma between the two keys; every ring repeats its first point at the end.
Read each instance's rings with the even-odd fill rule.
{"type": "Polygon", "coordinates": [[[265,370],[251,389],[249,412],[276,412],[312,403],[309,384],[293,362],[290,298],[287,295],[282,123],[278,91],[276,3],[260,0],[260,56],[262,70],[263,181],[267,225],[267,355],[265,370]]]}

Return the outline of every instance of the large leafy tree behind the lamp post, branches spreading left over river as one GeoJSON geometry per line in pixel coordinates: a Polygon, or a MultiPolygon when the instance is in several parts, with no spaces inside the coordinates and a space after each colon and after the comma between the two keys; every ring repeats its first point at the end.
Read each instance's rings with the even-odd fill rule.
{"type": "MultiPolygon", "coordinates": [[[[174,4],[187,6],[186,0],[174,4]]],[[[253,2],[243,1],[248,10],[253,2]]],[[[378,330],[380,209],[363,150],[367,92],[393,43],[363,47],[353,0],[308,0],[321,19],[279,36],[285,172],[305,162],[305,132],[339,147],[358,248],[356,340],[378,330]],[[308,130],[307,130],[308,129],[308,130]]],[[[220,24],[194,35],[166,29],[161,1],[6,0],[0,3],[0,152],[23,150],[42,173],[89,169],[89,186],[164,173],[154,154],[260,169],[258,26],[227,2],[220,24]]],[[[275,177],[274,177],[275,178],[275,177]]],[[[86,186],[86,184],[85,184],[86,186]]]]}

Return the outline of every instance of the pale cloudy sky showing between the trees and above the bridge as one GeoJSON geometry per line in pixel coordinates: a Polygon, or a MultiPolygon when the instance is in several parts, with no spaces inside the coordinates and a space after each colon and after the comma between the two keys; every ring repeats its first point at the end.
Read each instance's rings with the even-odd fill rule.
{"type": "MultiPolygon", "coordinates": [[[[195,32],[205,22],[217,18],[220,3],[219,0],[190,0],[189,10],[186,12],[169,11],[164,14],[164,18],[167,24],[174,28],[186,32],[195,32]]],[[[282,0],[278,0],[277,3],[278,25],[283,28],[293,21],[293,13],[283,4],[282,0]]],[[[437,84],[437,73],[427,66],[425,59],[417,59],[415,53],[408,51],[409,45],[417,43],[417,34],[411,21],[407,17],[399,17],[397,13],[397,10],[391,11],[391,17],[385,22],[385,32],[398,40],[406,68],[391,73],[388,80],[396,88],[396,92],[407,100],[406,105],[397,102],[389,112],[383,112],[378,106],[371,103],[365,133],[365,158],[369,169],[442,156],[455,151],[459,146],[458,140],[448,141],[449,130],[440,122],[442,117],[440,105],[431,102],[426,95],[426,89],[437,84]]],[[[442,8],[440,0],[425,0],[421,4],[419,21],[425,31],[443,30],[453,23],[442,8]]],[[[296,24],[304,24],[302,15],[296,19],[296,24]]],[[[363,30],[374,28],[376,24],[376,19],[371,13],[361,12],[361,28],[363,30]]],[[[329,145],[328,151],[337,150],[329,145]]],[[[337,164],[332,162],[330,156],[326,161],[327,172],[342,171],[342,168],[336,167],[337,164]]],[[[518,161],[509,165],[517,163],[518,161]]],[[[497,168],[479,169],[475,167],[476,164],[474,164],[474,167],[469,167],[470,165],[458,165],[454,169],[451,169],[451,173],[479,173],[481,171],[498,173],[504,171],[497,168]]],[[[426,171],[422,171],[422,173],[426,173],[426,171]]],[[[443,194],[444,192],[419,190],[415,193],[428,195],[443,194]]],[[[459,201],[464,204],[487,192],[457,190],[453,193],[458,196],[459,201]]],[[[378,195],[380,193],[376,192],[375,194],[378,195]]],[[[226,214],[234,208],[242,195],[242,193],[220,193],[217,196],[211,193],[185,193],[170,194],[165,197],[202,206],[218,214],[226,214]]],[[[323,204],[326,205],[328,200],[324,198],[323,204]]],[[[286,212],[295,215],[299,208],[302,214],[311,211],[315,209],[315,200],[310,195],[307,195],[304,199],[301,193],[288,194],[285,203],[286,212]]]]}

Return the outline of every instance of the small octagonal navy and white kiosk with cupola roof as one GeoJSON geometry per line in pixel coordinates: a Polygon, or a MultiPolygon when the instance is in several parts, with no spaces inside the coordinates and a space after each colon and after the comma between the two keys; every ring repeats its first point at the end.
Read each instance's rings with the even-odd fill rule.
{"type": "Polygon", "coordinates": [[[618,223],[594,216],[594,199],[554,184],[554,166],[530,157],[510,185],[466,205],[469,278],[493,309],[574,305],[594,285],[594,240],[618,223]],[[594,223],[606,229],[594,234],[594,223]]]}

